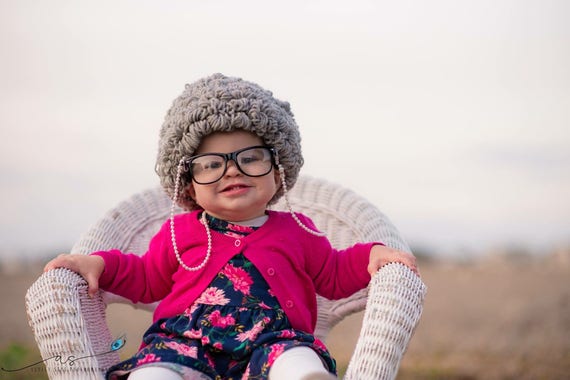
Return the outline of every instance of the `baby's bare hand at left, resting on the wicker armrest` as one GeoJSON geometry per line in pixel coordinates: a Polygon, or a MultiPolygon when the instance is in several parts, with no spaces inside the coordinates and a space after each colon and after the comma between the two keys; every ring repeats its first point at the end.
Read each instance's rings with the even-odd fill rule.
{"type": "Polygon", "coordinates": [[[99,290],[99,277],[105,269],[105,261],[100,256],[61,254],[46,264],[44,272],[56,268],[79,273],[87,281],[87,293],[93,297],[99,290]]]}

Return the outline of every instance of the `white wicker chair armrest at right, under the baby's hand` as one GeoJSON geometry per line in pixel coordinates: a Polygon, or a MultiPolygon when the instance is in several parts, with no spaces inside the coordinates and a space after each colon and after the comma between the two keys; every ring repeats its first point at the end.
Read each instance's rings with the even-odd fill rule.
{"type": "Polygon", "coordinates": [[[372,276],[360,337],[344,379],[395,379],[420,320],[427,288],[408,267],[392,263],[372,276]]]}

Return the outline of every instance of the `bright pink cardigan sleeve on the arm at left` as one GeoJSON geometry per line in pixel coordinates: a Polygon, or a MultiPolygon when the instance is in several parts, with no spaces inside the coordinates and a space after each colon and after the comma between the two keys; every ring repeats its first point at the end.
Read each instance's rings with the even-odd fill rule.
{"type": "Polygon", "coordinates": [[[99,251],[92,255],[105,261],[99,287],[132,302],[159,301],[172,288],[172,274],[177,265],[171,249],[168,222],[152,238],[148,251],[142,256],[124,254],[119,250],[99,251]]]}

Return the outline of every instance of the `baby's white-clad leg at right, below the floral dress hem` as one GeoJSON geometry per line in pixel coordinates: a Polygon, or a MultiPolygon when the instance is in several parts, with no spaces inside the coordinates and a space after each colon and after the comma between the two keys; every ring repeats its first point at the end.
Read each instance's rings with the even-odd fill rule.
{"type": "Polygon", "coordinates": [[[336,379],[315,351],[295,347],[279,355],[269,370],[269,380],[330,380],[336,379]]]}

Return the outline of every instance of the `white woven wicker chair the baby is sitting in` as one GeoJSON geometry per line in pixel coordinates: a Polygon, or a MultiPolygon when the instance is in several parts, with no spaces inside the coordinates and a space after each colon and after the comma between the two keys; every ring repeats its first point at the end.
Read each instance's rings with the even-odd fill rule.
{"type": "MultiPolygon", "coordinates": [[[[301,177],[289,192],[289,199],[293,209],[310,216],[338,248],[380,240],[409,251],[386,216],[348,189],[301,177]]],[[[279,203],[274,208],[284,206],[279,203]]],[[[136,194],[110,210],[72,252],[88,254],[111,248],[145,252],[169,210],[170,200],[159,188],[136,194]]],[[[373,276],[368,289],[349,298],[330,301],[319,297],[316,335],[321,339],[345,316],[366,306],[345,379],[396,377],[420,319],[425,293],[425,285],[411,270],[389,264],[373,276]]],[[[29,322],[42,357],[51,358],[45,361],[50,379],[102,379],[105,369],[119,361],[116,352],[107,353],[113,338],[106,324],[105,306],[116,301],[115,297],[88,297],[86,282],[67,269],[44,273],[30,287],[26,294],[29,322]]]]}

